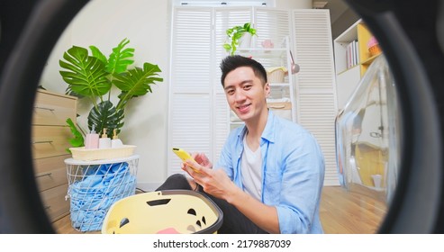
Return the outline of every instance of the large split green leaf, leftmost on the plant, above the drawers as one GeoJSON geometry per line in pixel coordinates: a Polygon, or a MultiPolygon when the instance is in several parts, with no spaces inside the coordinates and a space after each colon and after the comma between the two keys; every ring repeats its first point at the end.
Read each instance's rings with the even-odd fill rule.
{"type": "Polygon", "coordinates": [[[104,63],[98,58],[88,56],[87,49],[73,46],[63,54],[66,61],[59,60],[59,71],[69,89],[84,96],[101,96],[111,89],[104,63]]]}

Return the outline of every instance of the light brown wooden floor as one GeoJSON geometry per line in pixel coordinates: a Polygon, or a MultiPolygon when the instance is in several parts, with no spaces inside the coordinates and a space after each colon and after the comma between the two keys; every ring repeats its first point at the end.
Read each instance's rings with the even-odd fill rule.
{"type": "MultiPolygon", "coordinates": [[[[350,193],[340,186],[325,186],[322,190],[321,220],[326,234],[373,234],[385,217],[385,203],[365,193],[350,193]]],[[[82,233],[73,229],[69,215],[53,223],[61,234],[82,233]]]]}

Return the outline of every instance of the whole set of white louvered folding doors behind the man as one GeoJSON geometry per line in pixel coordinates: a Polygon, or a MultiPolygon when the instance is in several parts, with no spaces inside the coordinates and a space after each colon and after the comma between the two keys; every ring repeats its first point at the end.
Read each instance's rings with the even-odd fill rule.
{"type": "MultiPolygon", "coordinates": [[[[219,158],[230,130],[230,111],[220,81],[225,30],[251,22],[255,47],[290,37],[301,71],[294,77],[296,121],[313,132],[326,159],[325,185],[339,184],[335,162],[336,112],[330,16],[323,10],[267,7],[175,7],[171,50],[168,147],[219,158]]],[[[182,173],[168,151],[168,175],[182,173]]]]}

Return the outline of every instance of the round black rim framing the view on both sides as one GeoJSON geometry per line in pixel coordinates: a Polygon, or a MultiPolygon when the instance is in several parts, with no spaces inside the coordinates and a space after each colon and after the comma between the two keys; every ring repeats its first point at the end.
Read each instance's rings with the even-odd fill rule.
{"type": "MultiPolygon", "coordinates": [[[[0,3],[0,233],[54,233],[32,168],[32,105],[59,35],[86,0],[0,3]]],[[[379,233],[443,233],[444,1],[346,0],[376,35],[401,100],[399,184],[379,233]]]]}

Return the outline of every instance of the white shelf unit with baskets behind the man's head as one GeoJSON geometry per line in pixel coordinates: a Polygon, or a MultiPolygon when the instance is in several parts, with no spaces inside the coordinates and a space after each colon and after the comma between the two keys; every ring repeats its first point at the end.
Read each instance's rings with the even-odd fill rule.
{"type": "MultiPolygon", "coordinates": [[[[254,42],[252,44],[255,44],[254,42]]],[[[270,96],[267,98],[267,104],[270,110],[277,115],[296,121],[294,105],[294,76],[291,74],[292,60],[290,55],[290,45],[287,36],[275,48],[240,48],[237,54],[252,57],[261,63],[266,70],[272,67],[285,67],[287,74],[282,81],[274,82],[268,79],[271,87],[270,96]]],[[[231,129],[243,124],[234,112],[230,112],[231,129]]]]}

